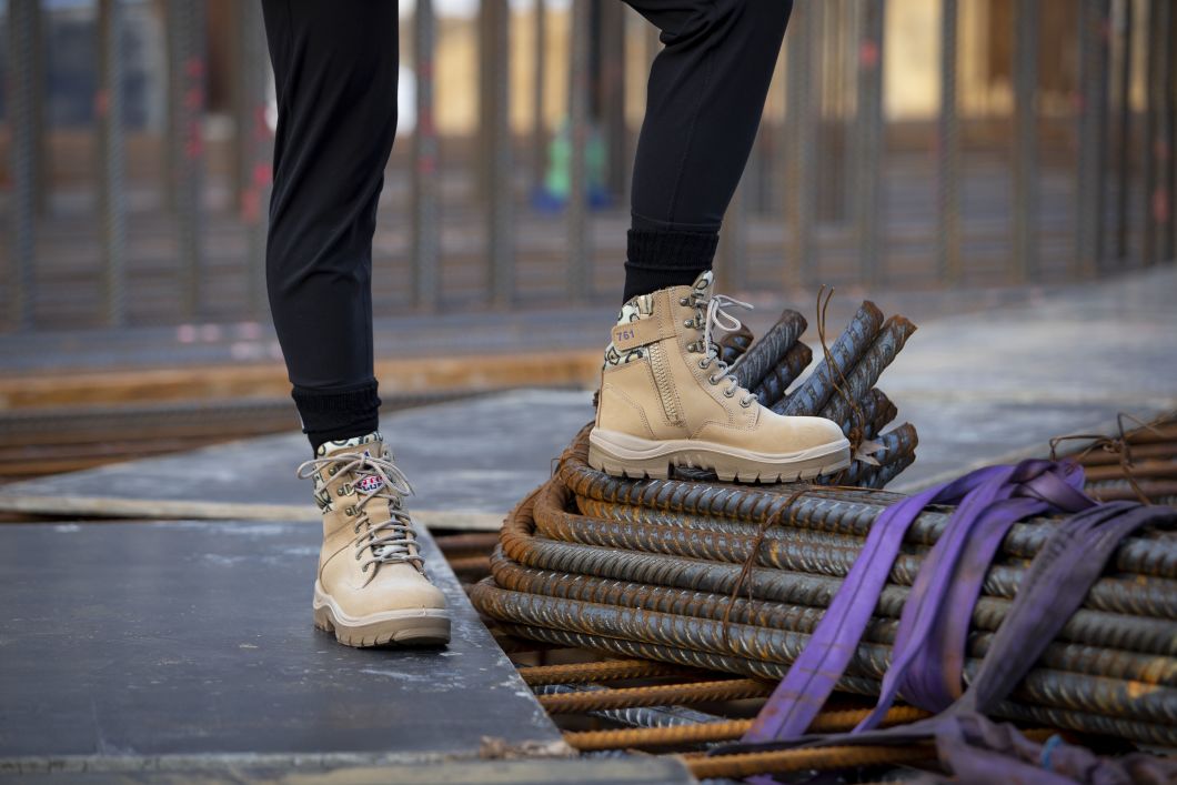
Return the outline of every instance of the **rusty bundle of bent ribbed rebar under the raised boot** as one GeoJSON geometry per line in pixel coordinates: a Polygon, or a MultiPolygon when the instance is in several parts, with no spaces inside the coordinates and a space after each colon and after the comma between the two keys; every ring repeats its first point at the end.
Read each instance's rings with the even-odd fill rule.
{"type": "MultiPolygon", "coordinates": [[[[814,372],[777,398],[793,382],[785,378],[791,373],[786,360],[803,346],[797,335],[804,327],[796,319],[783,318],[771,340],[751,347],[747,335],[737,333],[725,350],[740,357],[734,368],[742,382],[764,393],[774,408],[845,418],[847,433],[882,443],[879,466],[856,460],[847,472],[865,487],[740,486],[698,474],[618,479],[587,465],[586,426],[552,479],[507,518],[491,557],[492,577],[472,590],[476,606],[507,632],[553,645],[782,678],[872,523],[903,498],[870,486],[910,464],[916,443],[906,425],[879,433],[895,408],[873,388],[910,334],[910,322],[884,324],[865,304],[851,330],[823,350],[814,372]],[[864,420],[866,411],[876,421],[864,420]]],[[[950,515],[949,508],[932,507],[907,530],[839,690],[878,694],[906,597],[950,515]]],[[[972,608],[965,681],[977,673],[1030,560],[1058,521],[1023,520],[1002,541],[972,608]]],[[[1144,528],[1119,543],[1083,607],[995,713],[1177,745],[1172,530],[1144,528]]]]}

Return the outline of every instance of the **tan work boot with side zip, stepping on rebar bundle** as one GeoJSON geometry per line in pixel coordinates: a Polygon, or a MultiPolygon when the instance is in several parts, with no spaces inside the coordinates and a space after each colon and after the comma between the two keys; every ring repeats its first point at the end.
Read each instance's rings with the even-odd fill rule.
{"type": "Polygon", "coordinates": [[[693,286],[641,294],[621,307],[605,351],[588,465],[619,477],[665,479],[672,466],[720,480],[787,483],[850,465],[850,441],[820,417],[784,417],[744,390],[719,359],[713,330],[739,330],[712,293],[693,286]]]}

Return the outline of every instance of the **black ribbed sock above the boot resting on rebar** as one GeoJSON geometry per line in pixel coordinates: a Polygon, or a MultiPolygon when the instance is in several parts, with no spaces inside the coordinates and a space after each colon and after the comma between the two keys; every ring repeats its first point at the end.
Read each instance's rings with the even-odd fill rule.
{"type": "Polygon", "coordinates": [[[647,228],[634,218],[625,261],[621,302],[669,286],[690,286],[711,270],[719,232],[647,228]]]}

